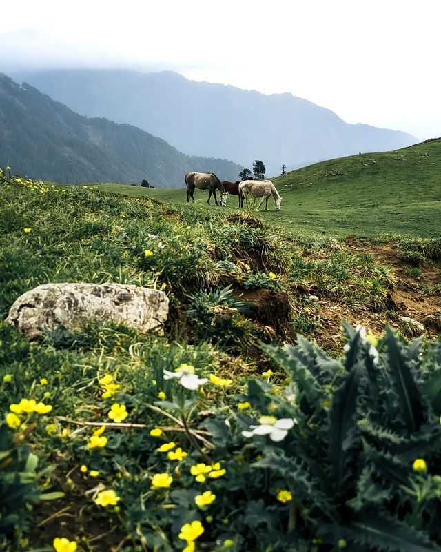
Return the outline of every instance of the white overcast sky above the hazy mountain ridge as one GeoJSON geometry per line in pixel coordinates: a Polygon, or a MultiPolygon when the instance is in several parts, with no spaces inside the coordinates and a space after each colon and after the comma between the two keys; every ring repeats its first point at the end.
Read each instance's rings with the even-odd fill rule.
{"type": "Polygon", "coordinates": [[[440,0],[2,2],[0,70],[175,70],[441,136],[440,0]]]}

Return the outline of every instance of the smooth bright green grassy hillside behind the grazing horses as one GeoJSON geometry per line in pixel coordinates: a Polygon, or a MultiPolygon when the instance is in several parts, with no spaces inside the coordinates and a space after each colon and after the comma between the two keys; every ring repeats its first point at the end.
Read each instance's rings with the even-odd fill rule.
{"type": "MultiPolygon", "coordinates": [[[[323,161],[274,178],[283,197],[282,210],[259,216],[271,224],[335,237],[440,235],[441,139],[402,150],[323,161]]],[[[185,189],[159,190],[101,184],[113,193],[148,195],[175,204],[185,202],[185,189]]],[[[196,191],[204,204],[206,193],[196,191]]],[[[227,210],[236,210],[229,197],[227,210]]],[[[214,207],[212,207],[214,208],[214,207]]]]}

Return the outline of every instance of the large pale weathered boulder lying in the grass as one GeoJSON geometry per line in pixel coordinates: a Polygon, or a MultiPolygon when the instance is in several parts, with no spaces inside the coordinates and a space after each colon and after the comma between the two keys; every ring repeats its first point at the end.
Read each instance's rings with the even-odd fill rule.
{"type": "Polygon", "coordinates": [[[90,319],[121,322],[146,332],[167,315],[163,291],[130,284],[43,284],[18,298],[6,321],[36,339],[59,326],[77,331],[90,319]]]}

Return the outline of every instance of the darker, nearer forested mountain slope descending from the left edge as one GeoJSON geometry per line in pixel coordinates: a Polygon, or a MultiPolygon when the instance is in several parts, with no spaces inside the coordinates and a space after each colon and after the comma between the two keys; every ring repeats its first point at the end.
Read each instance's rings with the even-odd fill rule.
{"type": "Polygon", "coordinates": [[[78,115],[27,83],[0,73],[0,166],[66,184],[125,182],[184,186],[189,170],[237,179],[240,166],[190,157],[129,124],[78,115]]]}

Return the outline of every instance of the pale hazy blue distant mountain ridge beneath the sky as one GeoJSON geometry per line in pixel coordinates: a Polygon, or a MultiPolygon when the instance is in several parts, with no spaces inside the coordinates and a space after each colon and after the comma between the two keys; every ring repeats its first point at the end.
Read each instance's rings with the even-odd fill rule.
{"type": "Polygon", "coordinates": [[[129,70],[54,70],[17,75],[89,117],[129,123],[190,155],[233,159],[267,176],[353,155],[394,150],[415,137],[364,124],[291,94],[263,95],[234,86],[194,82],[178,73],[129,70]]]}

